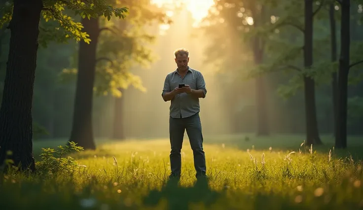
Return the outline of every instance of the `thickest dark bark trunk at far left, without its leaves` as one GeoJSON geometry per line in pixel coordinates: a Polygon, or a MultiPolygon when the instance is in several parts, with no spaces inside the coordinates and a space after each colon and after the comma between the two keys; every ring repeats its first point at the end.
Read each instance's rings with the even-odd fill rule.
{"type": "Polygon", "coordinates": [[[41,0],[15,0],[9,29],[10,48],[0,108],[0,164],[5,158],[21,170],[35,171],[33,157],[33,89],[41,0]],[[7,151],[12,151],[10,157],[7,151]]]}

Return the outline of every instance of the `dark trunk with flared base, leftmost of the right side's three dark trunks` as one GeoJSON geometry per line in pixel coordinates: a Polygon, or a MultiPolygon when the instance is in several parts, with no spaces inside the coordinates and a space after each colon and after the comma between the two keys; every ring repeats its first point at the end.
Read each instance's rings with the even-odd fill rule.
{"type": "MultiPolygon", "coordinates": [[[[304,33],[304,66],[310,69],[313,65],[313,0],[305,0],[305,33],[304,33]]],[[[306,144],[322,144],[319,137],[316,116],[315,81],[304,76],[306,144]]]]}

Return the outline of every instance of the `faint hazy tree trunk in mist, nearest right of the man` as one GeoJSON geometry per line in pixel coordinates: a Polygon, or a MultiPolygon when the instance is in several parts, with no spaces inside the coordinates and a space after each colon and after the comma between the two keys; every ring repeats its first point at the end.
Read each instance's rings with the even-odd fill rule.
{"type": "MultiPolygon", "coordinates": [[[[251,4],[251,10],[254,18],[254,27],[257,28],[264,21],[264,6],[257,12],[256,3],[251,4]]],[[[258,35],[254,37],[253,41],[253,52],[254,52],[254,63],[260,65],[263,62],[263,50],[264,41],[258,35]]],[[[257,115],[257,136],[269,135],[268,126],[268,111],[267,111],[267,100],[266,100],[266,81],[264,76],[257,76],[255,81],[256,88],[256,115],[257,115]]]]}

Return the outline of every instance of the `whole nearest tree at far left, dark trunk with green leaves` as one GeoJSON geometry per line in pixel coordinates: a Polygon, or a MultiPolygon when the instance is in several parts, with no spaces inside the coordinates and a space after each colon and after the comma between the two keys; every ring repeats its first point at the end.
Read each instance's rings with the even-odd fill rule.
{"type": "Polygon", "coordinates": [[[7,1],[1,8],[1,26],[9,22],[7,28],[11,37],[0,108],[0,164],[5,158],[11,158],[21,170],[36,170],[32,104],[38,38],[41,37],[45,45],[54,39],[90,41],[88,35],[81,32],[82,25],[64,14],[65,8],[87,18],[101,15],[121,18],[127,11],[110,6],[106,0],[14,0],[13,4],[7,1]],[[52,23],[39,24],[41,18],[52,23]],[[7,157],[9,150],[12,155],[7,157]]]}

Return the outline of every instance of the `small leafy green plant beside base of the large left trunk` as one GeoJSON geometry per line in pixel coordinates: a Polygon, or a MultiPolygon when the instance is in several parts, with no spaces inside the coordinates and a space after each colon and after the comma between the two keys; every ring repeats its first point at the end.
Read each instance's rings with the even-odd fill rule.
{"type": "Polygon", "coordinates": [[[63,147],[58,146],[60,150],[54,150],[51,148],[41,148],[42,153],[40,154],[42,161],[36,162],[37,173],[44,174],[57,174],[58,172],[70,173],[74,171],[74,168],[78,168],[77,162],[70,156],[64,157],[65,154],[72,150],[79,152],[83,150],[83,147],[77,146],[77,143],[70,141],[70,145],[63,147]],[[54,157],[54,153],[58,154],[58,158],[54,157]]]}

